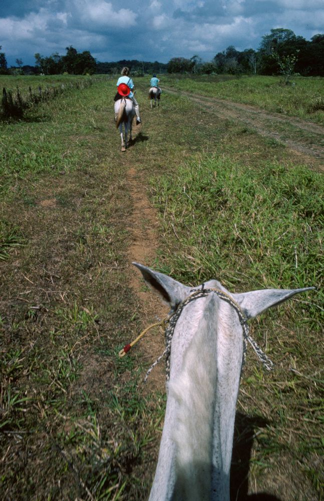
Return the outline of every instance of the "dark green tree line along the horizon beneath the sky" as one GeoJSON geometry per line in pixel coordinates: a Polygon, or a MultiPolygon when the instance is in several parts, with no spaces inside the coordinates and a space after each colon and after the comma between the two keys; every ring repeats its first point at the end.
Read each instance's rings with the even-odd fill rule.
{"type": "MultiPolygon", "coordinates": [[[[1,46],[0,46],[1,50],[1,46]]],[[[23,65],[17,59],[17,67],[8,68],[6,55],[0,52],[0,74],[44,74],[73,75],[117,74],[123,66],[128,66],[134,76],[145,73],[193,73],[193,74],[291,74],[302,76],[324,76],[324,34],[314,35],[310,41],[296,36],[293,31],[276,28],[262,37],[259,49],[237,51],[230,45],[218,52],[209,62],[195,55],[190,59],[172,58],[167,64],[122,60],[101,63],[89,51],[78,53],[72,46],[66,48],[66,55],[58,53],[44,57],[35,54],[35,66],[23,65]]]]}

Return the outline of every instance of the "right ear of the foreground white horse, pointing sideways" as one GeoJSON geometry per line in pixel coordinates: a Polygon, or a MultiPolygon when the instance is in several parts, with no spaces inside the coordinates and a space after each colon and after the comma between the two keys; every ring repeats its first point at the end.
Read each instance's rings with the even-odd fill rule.
{"type": "Polygon", "coordinates": [[[260,291],[232,294],[232,297],[240,305],[247,318],[254,318],[272,306],[276,306],[286,299],[300,292],[310,291],[314,287],[305,289],[263,289],[260,291]]]}

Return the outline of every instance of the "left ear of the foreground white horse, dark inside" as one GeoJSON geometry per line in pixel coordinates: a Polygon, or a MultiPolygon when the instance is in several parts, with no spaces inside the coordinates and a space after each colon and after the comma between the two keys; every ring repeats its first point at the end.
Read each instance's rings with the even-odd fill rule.
{"type": "Polygon", "coordinates": [[[164,275],[163,273],[155,272],[146,266],[139,263],[133,263],[143,275],[147,285],[156,292],[160,299],[172,310],[175,310],[179,303],[190,294],[190,287],[184,286],[176,280],[164,275]]]}

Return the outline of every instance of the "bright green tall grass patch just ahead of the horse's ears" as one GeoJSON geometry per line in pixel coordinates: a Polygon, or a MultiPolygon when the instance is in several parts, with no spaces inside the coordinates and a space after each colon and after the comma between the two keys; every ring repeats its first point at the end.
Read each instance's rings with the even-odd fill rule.
{"type": "Polygon", "coordinates": [[[167,262],[183,281],[214,277],[232,290],[320,286],[320,174],[205,158],[154,183],[167,247],[177,241],[167,262]]]}

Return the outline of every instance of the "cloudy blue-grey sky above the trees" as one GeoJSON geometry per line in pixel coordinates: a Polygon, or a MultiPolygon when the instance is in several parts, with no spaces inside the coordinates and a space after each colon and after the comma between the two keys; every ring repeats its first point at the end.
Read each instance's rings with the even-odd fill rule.
{"type": "Polygon", "coordinates": [[[0,0],[8,66],[72,45],[98,61],[210,61],[229,45],[257,49],[271,28],[310,40],[324,33],[324,0],[0,0]]]}

